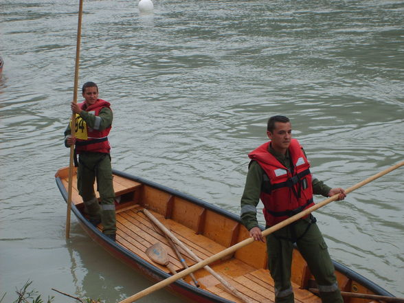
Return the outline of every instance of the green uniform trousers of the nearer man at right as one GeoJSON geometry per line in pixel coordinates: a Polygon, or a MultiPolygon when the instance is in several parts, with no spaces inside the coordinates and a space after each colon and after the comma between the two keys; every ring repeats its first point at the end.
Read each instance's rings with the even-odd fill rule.
{"type": "Polygon", "coordinates": [[[311,223],[311,217],[295,221],[267,236],[268,268],[275,282],[275,302],[295,302],[291,285],[293,243],[298,245],[315,277],[322,302],[342,303],[327,245],[315,221],[311,223]]]}

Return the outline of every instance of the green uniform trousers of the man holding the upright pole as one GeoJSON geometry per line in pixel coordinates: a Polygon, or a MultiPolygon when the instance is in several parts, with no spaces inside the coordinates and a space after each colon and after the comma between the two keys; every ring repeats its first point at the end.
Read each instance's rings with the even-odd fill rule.
{"type": "Polygon", "coordinates": [[[104,234],[115,234],[115,192],[112,182],[111,157],[104,153],[80,153],[77,187],[91,221],[101,221],[104,234]],[[94,182],[100,192],[101,205],[94,192],[94,182]]]}

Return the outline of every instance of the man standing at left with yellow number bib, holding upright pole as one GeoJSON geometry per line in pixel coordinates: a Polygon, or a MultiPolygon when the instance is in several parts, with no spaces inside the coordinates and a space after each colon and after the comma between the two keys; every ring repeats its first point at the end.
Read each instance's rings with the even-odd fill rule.
{"type": "Polygon", "coordinates": [[[84,102],[71,102],[71,111],[76,113],[76,133],[75,137],[71,137],[69,124],[65,131],[65,146],[76,144],[77,188],[84,201],[89,221],[95,226],[102,223],[102,232],[115,241],[115,192],[109,154],[111,146],[107,137],[113,120],[111,104],[98,98],[98,87],[94,82],[86,82],[83,85],[82,96],[85,98],[84,102]],[[94,192],[96,180],[101,205],[94,192]]]}

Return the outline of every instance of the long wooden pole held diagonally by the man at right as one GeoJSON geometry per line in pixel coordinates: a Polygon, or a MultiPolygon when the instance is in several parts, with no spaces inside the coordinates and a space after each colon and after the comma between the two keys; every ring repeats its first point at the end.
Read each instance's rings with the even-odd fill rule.
{"type": "MultiPolygon", "coordinates": [[[[385,170],[382,170],[381,172],[378,172],[376,175],[373,175],[372,177],[368,177],[368,179],[365,179],[357,184],[355,186],[351,186],[350,188],[346,189],[346,193],[350,193],[354,190],[357,190],[358,188],[361,188],[362,186],[374,181],[375,179],[378,179],[380,177],[383,177],[384,175],[388,174],[389,172],[392,172],[393,170],[396,170],[397,168],[401,167],[404,165],[404,161],[400,162],[399,164],[396,164],[394,166],[391,166],[390,168],[386,168],[385,170]]],[[[303,212],[300,212],[299,214],[295,214],[295,216],[291,216],[290,218],[287,218],[287,220],[284,220],[276,225],[273,225],[269,227],[268,229],[265,229],[262,232],[262,236],[268,236],[269,234],[275,232],[278,229],[281,229],[282,227],[285,227],[292,222],[295,222],[299,220],[300,218],[310,214],[311,212],[314,212],[315,210],[318,210],[320,207],[323,207],[324,205],[327,205],[328,203],[331,203],[335,200],[338,199],[339,194],[335,194],[333,197],[329,197],[328,199],[325,199],[324,201],[321,201],[317,203],[316,205],[313,205],[312,207],[304,210],[303,212]]],[[[150,293],[153,293],[153,291],[157,291],[158,289],[162,289],[163,287],[166,287],[167,285],[171,284],[172,282],[175,282],[176,280],[183,278],[190,273],[193,273],[194,271],[197,271],[198,269],[201,269],[202,267],[205,267],[205,265],[208,265],[216,260],[219,260],[229,254],[234,253],[237,249],[240,249],[241,247],[245,247],[246,245],[249,245],[254,242],[254,238],[247,238],[231,247],[228,247],[227,249],[224,249],[223,251],[219,252],[218,254],[215,254],[213,256],[210,256],[209,258],[206,258],[202,262],[199,262],[195,265],[192,265],[188,269],[184,269],[180,273],[177,273],[177,275],[171,276],[170,278],[167,278],[166,280],[162,280],[151,287],[148,287],[147,289],[144,289],[143,291],[139,291],[139,293],[135,293],[135,295],[131,295],[131,297],[126,298],[125,300],[122,300],[119,303],[132,303],[135,302],[135,300],[138,300],[140,298],[143,298],[146,295],[149,295],[150,293]]]]}

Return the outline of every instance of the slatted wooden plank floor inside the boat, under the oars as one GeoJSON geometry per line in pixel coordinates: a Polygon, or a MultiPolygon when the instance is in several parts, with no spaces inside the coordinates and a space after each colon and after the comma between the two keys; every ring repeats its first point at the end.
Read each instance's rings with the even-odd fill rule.
{"type": "MultiPolygon", "coordinates": [[[[174,265],[177,271],[181,271],[183,265],[177,260],[175,252],[172,251],[164,235],[161,234],[157,227],[154,227],[153,223],[151,223],[142,212],[139,212],[139,210],[142,210],[142,207],[133,206],[117,211],[117,243],[141,256],[144,260],[155,264],[148,258],[145,251],[151,245],[159,242],[168,252],[170,263],[174,265]]],[[[170,229],[171,232],[181,240],[181,242],[189,247],[194,254],[201,259],[212,256],[226,248],[222,245],[218,245],[205,236],[195,234],[191,229],[188,229],[175,221],[165,219],[163,216],[155,212],[152,213],[161,223],[170,229]]],[[[196,263],[191,258],[188,258],[185,252],[181,251],[181,254],[183,254],[189,266],[196,263]]],[[[167,273],[169,272],[164,266],[156,266],[167,273]]],[[[213,265],[210,265],[210,267],[236,287],[238,291],[249,297],[252,302],[266,303],[275,301],[275,295],[273,294],[273,280],[269,275],[269,271],[265,269],[254,269],[236,259],[224,260],[222,262],[218,261],[213,265]]],[[[241,302],[238,298],[234,297],[234,295],[228,293],[223,285],[204,269],[195,272],[194,275],[203,289],[207,289],[207,291],[234,302],[241,302]]],[[[191,281],[189,277],[184,278],[184,280],[186,280],[186,282],[191,281]]],[[[316,295],[313,295],[313,293],[306,290],[299,289],[296,285],[293,285],[293,289],[295,292],[295,302],[321,302],[316,295]]]]}

